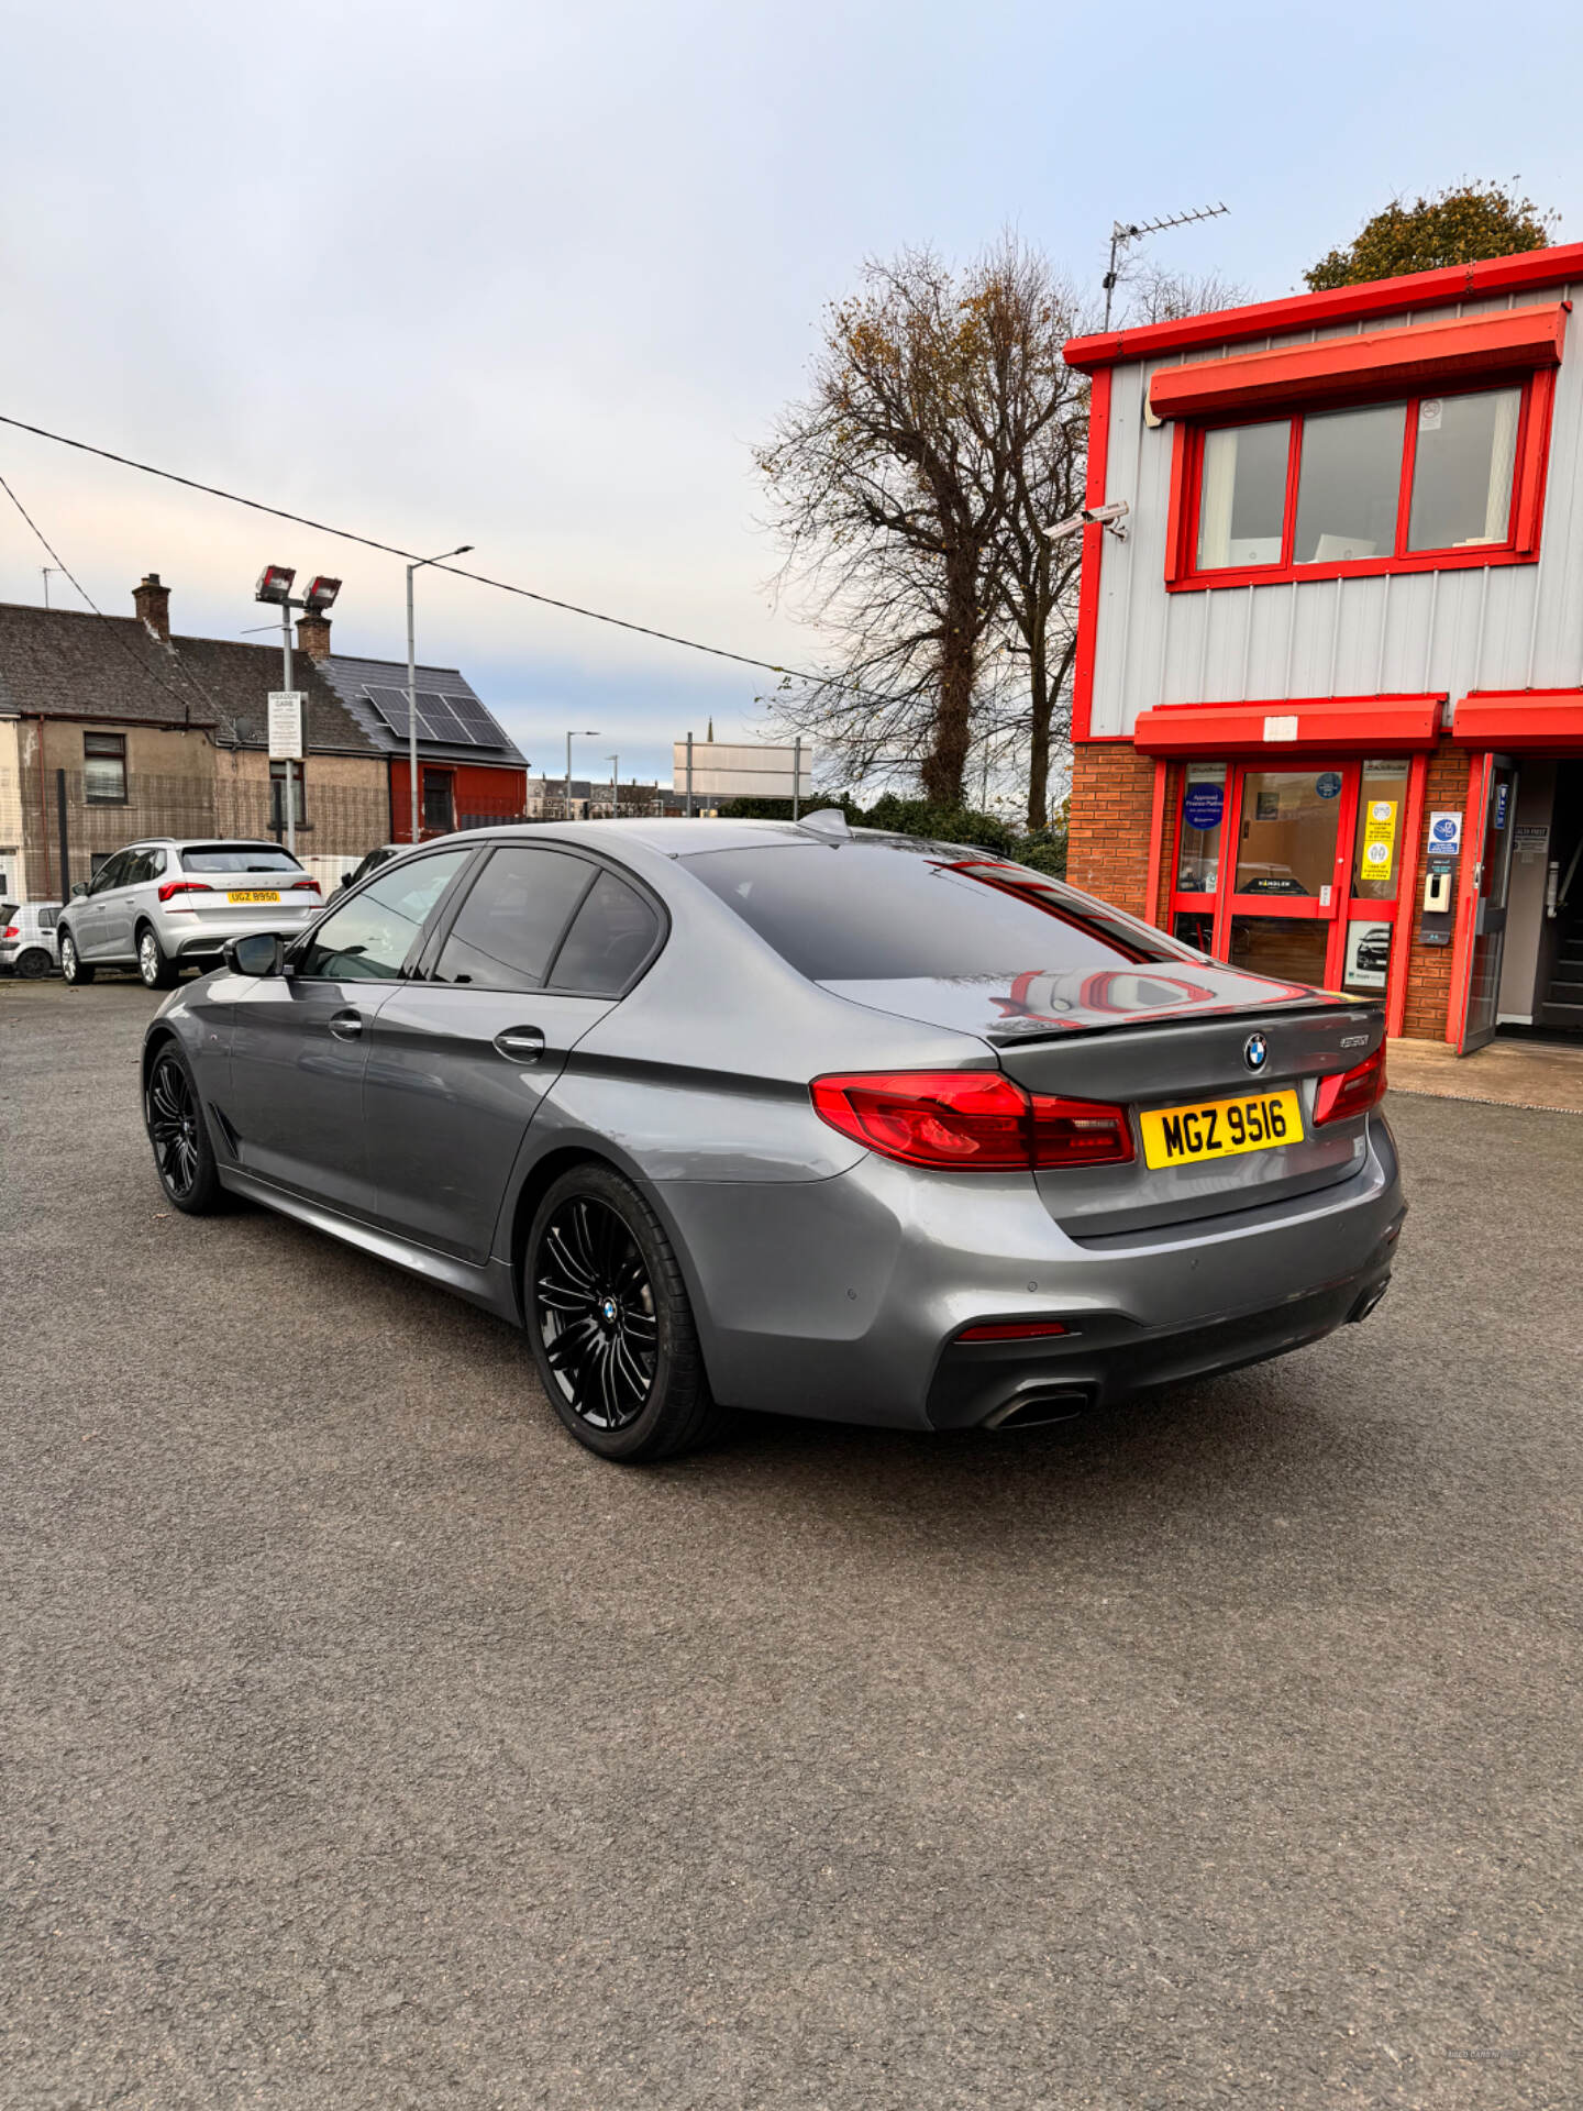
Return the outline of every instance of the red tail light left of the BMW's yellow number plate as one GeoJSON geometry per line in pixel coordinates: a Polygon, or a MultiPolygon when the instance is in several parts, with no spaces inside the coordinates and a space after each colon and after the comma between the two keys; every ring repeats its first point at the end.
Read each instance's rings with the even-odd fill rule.
{"type": "Polygon", "coordinates": [[[1131,1159],[1127,1110],[1024,1091],[998,1070],[867,1070],[817,1077],[815,1112],[903,1165],[1000,1174],[1131,1159]]]}

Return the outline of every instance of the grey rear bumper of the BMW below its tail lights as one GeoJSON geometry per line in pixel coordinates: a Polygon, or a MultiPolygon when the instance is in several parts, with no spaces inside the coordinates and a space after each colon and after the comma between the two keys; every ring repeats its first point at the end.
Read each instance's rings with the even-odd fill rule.
{"type": "Polygon", "coordinates": [[[716,1395],[901,1429],[996,1419],[1036,1389],[1085,1404],[1281,1355],[1391,1273],[1406,1205],[1382,1117],[1319,1193],[1081,1241],[1026,1176],[914,1174],[867,1157],[827,1180],[663,1182],[716,1395]],[[956,1345],[984,1321],[1062,1336],[956,1345]]]}

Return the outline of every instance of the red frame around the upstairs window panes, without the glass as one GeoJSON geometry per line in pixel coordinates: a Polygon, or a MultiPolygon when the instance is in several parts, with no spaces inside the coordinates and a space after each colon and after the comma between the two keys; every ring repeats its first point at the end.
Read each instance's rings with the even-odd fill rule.
{"type": "Polygon", "coordinates": [[[1549,456],[1549,422],[1556,401],[1556,369],[1539,367],[1532,374],[1492,374],[1486,382],[1458,388],[1418,388],[1401,395],[1399,388],[1347,397],[1344,401],[1321,399],[1313,403],[1292,403],[1281,410],[1262,405],[1239,418],[1182,420],[1176,426],[1171,454],[1171,502],[1165,538],[1165,585],[1171,593],[1201,593],[1207,587],[1269,587],[1290,585],[1307,578],[1368,578],[1380,572],[1450,572],[1469,566],[1490,564],[1532,564],[1539,557],[1539,519],[1545,490],[1545,464],[1549,456]],[[1418,405],[1429,401],[1450,401],[1465,395],[1488,395],[1496,388],[1518,386],[1522,403],[1518,410],[1518,445],[1511,467],[1511,515],[1505,543],[1480,543],[1475,549],[1414,549],[1408,545],[1408,521],[1412,517],[1412,471],[1418,456],[1418,405]],[[1296,564],[1292,547],[1298,521],[1298,477],[1302,471],[1302,429],[1307,418],[1336,410],[1376,410],[1385,403],[1404,405],[1401,479],[1397,483],[1395,547],[1382,557],[1353,557],[1338,564],[1296,564]],[[1199,507],[1203,494],[1203,439],[1207,433],[1224,433],[1243,424],[1281,424],[1288,431],[1285,456],[1285,511],[1281,517],[1281,562],[1252,566],[1222,566],[1209,572],[1197,568],[1199,562],[1199,507]]]}

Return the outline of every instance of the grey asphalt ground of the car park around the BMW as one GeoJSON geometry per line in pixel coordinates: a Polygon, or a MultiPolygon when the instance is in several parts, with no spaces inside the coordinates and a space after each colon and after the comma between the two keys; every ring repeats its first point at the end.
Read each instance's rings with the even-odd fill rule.
{"type": "Polygon", "coordinates": [[[6,2107],[1583,2103],[1583,1121],[1079,1440],[583,1454],[0,986],[6,2107]]]}

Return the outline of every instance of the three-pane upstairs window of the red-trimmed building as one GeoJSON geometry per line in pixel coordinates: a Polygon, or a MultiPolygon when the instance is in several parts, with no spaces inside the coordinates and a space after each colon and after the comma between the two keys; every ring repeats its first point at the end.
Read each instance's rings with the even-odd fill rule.
{"type": "Polygon", "coordinates": [[[1482,388],[1212,426],[1197,445],[1184,433],[1195,583],[1515,555],[1528,393],[1482,388]]]}

